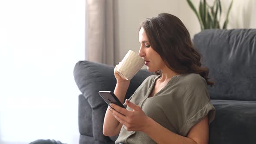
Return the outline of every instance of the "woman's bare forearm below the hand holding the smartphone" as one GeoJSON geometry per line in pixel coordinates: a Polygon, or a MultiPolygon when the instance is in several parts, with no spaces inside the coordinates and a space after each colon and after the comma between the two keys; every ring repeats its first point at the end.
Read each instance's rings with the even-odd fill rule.
{"type": "Polygon", "coordinates": [[[188,137],[183,137],[169,131],[152,118],[148,118],[147,123],[148,126],[145,127],[143,132],[158,144],[197,144],[194,140],[188,137]]]}

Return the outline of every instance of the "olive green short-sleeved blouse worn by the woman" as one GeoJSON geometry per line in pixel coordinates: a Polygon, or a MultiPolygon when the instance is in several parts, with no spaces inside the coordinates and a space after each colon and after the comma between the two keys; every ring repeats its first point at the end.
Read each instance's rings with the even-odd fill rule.
{"type": "MultiPolygon", "coordinates": [[[[148,98],[160,75],[151,75],[142,82],[129,99],[139,105],[144,113],[164,128],[186,137],[190,128],[209,113],[209,124],[215,118],[215,108],[210,103],[207,83],[199,74],[175,75],[158,93],[148,98]]],[[[131,110],[126,103],[126,109],[131,110]]],[[[115,144],[156,144],[141,131],[121,128],[115,144]]]]}

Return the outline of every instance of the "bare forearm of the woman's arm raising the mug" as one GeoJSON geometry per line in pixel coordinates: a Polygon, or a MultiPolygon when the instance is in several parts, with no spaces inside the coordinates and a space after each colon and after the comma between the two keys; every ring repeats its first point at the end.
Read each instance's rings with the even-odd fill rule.
{"type": "MultiPolygon", "coordinates": [[[[129,87],[129,82],[117,83],[115,86],[114,94],[121,101],[121,103],[125,100],[125,94],[129,87]]],[[[109,108],[109,106],[108,106],[109,108]]],[[[103,124],[103,134],[106,136],[115,136],[119,134],[121,130],[122,124],[115,119],[115,117],[111,114],[111,111],[107,109],[104,118],[103,124]]]]}

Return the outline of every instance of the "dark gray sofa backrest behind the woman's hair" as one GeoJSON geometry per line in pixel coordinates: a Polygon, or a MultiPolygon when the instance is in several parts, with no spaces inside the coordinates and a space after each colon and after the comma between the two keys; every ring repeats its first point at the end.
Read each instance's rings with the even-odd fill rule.
{"type": "Polygon", "coordinates": [[[256,29],[208,29],[193,43],[215,81],[212,99],[256,101],[256,29]]]}

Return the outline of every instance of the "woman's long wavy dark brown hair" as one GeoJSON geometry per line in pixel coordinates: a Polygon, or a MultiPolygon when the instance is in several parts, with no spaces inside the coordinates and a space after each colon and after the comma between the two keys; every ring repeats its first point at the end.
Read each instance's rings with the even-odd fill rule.
{"type": "Polygon", "coordinates": [[[194,49],[190,34],[179,18],[169,13],[160,13],[140,24],[148,36],[154,51],[158,52],[167,67],[174,72],[197,73],[207,82],[209,69],[201,67],[201,55],[194,49]]]}

